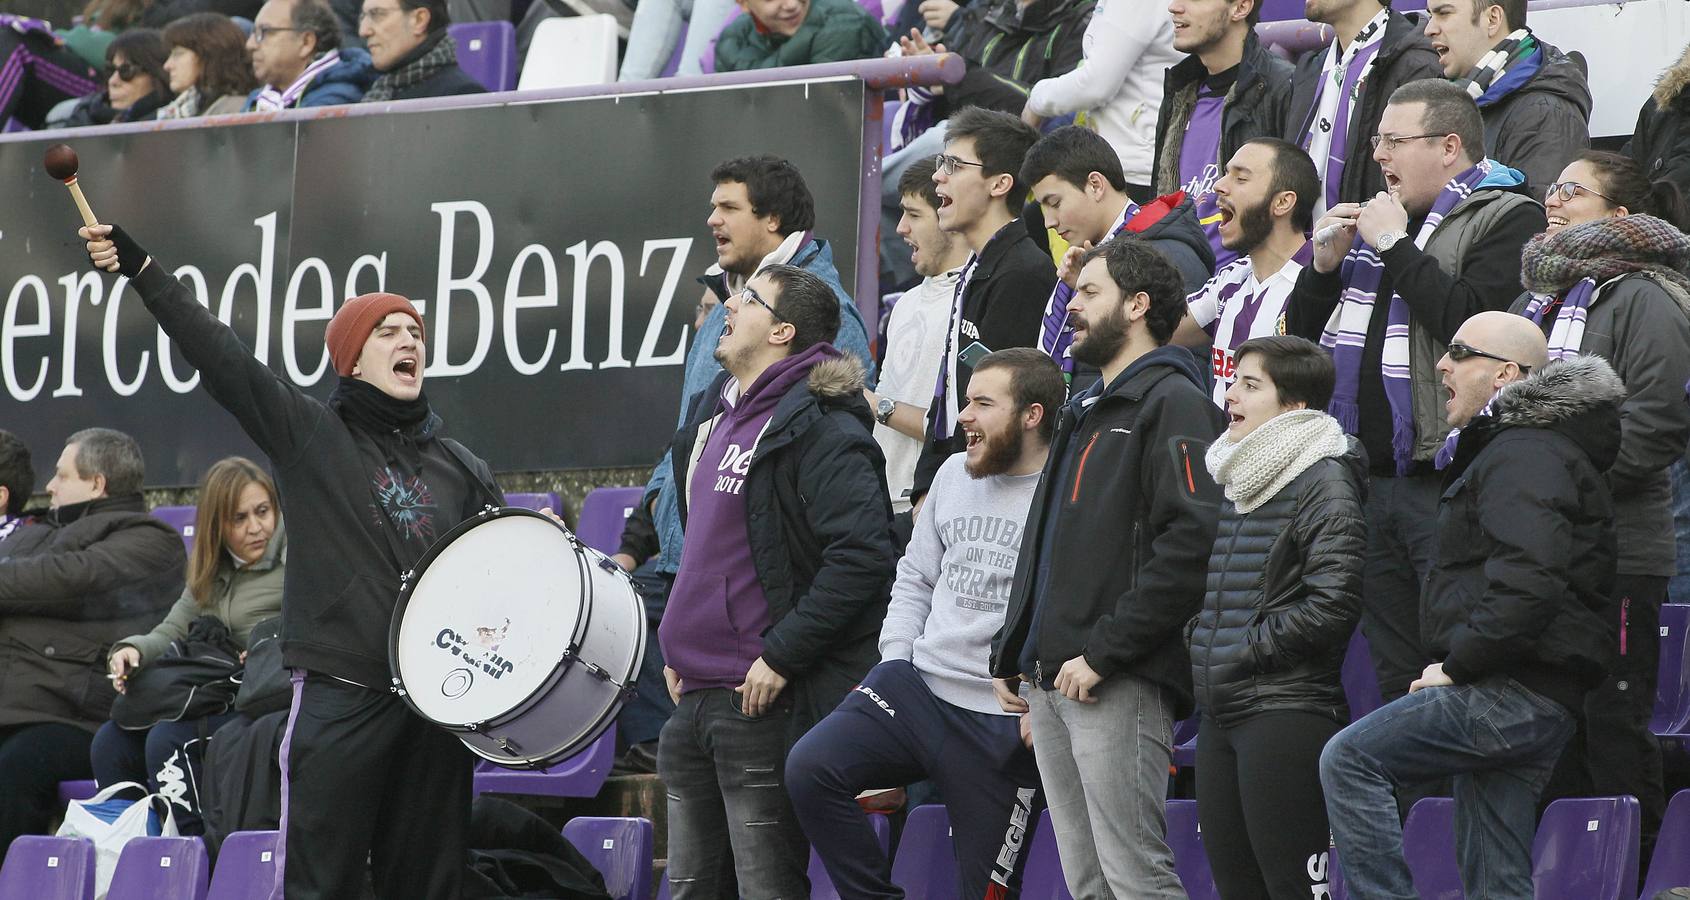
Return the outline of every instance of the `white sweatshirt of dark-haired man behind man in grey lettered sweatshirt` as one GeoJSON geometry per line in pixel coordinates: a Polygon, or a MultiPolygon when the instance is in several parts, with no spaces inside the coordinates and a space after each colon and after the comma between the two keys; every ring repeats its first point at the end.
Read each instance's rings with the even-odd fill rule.
{"type": "MultiPolygon", "coordinates": [[[[951,295],[962,268],[924,279],[897,299],[886,321],[886,360],[875,393],[899,404],[928,409],[933,387],[940,380],[945,358],[945,333],[950,328],[951,295]]],[[[909,488],[916,481],[921,441],[875,422],[874,439],[886,454],[886,485],[892,493],[892,510],[909,508],[909,488]]]]}

